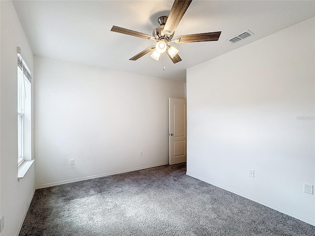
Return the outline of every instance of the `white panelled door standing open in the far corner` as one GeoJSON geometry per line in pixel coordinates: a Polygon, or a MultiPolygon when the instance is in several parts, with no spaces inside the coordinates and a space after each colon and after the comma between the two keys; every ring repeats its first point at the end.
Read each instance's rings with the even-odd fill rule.
{"type": "Polygon", "coordinates": [[[169,98],[169,164],[186,161],[186,99],[169,98]]]}

